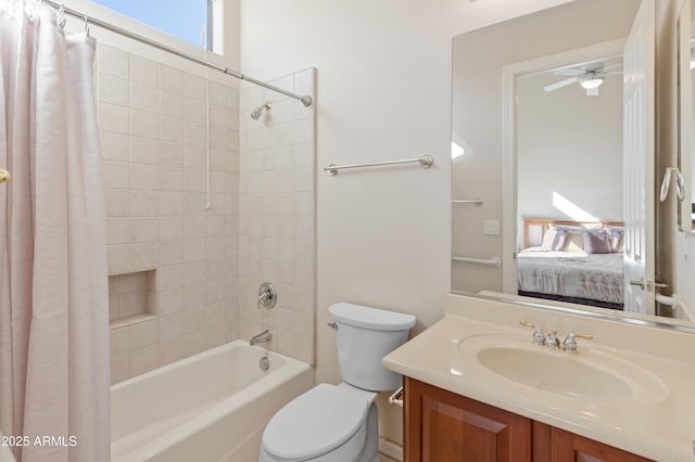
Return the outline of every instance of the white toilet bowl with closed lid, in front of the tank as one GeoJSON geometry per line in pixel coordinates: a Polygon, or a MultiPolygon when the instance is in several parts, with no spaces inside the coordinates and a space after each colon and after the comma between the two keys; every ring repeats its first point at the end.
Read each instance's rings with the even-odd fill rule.
{"type": "Polygon", "coordinates": [[[343,387],[317,385],[273,416],[263,433],[263,450],[274,460],[288,462],[331,451],[340,452],[334,460],[354,460],[366,439],[369,406],[367,399],[343,387]]]}

